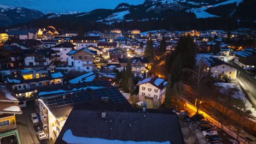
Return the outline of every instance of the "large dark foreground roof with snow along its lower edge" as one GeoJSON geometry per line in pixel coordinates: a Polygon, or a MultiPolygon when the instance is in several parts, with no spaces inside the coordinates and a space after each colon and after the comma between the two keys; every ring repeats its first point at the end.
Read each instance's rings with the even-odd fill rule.
{"type": "Polygon", "coordinates": [[[94,138],[90,140],[97,142],[92,143],[183,144],[178,116],[160,111],[72,110],[55,143],[85,143],[94,138]],[[106,112],[106,118],[102,118],[102,112],[106,112]]]}

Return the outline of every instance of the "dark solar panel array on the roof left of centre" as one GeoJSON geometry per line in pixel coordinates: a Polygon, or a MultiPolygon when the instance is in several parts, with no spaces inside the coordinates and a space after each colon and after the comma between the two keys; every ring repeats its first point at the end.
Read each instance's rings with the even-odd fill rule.
{"type": "Polygon", "coordinates": [[[85,101],[92,101],[96,98],[108,97],[112,103],[123,103],[126,101],[123,94],[121,94],[117,88],[109,87],[109,88],[101,88],[101,89],[93,89],[89,91],[80,91],[73,94],[65,95],[63,98],[62,95],[44,98],[44,103],[48,106],[57,105],[69,105],[75,103],[81,103],[85,101]]]}

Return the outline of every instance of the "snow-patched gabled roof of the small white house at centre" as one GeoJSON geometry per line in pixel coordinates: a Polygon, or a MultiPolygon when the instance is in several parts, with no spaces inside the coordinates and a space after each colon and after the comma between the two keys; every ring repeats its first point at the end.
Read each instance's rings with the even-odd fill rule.
{"type": "Polygon", "coordinates": [[[164,89],[167,84],[167,81],[155,76],[155,77],[149,77],[147,79],[144,79],[144,80],[138,82],[137,86],[142,85],[143,83],[150,83],[151,85],[153,85],[157,88],[164,89]]]}

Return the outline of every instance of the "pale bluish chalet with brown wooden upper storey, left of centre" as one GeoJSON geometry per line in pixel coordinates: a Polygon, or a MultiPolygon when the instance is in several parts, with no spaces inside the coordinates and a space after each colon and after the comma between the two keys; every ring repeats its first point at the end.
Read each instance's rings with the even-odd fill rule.
{"type": "Polygon", "coordinates": [[[86,47],[80,50],[72,50],[67,53],[68,55],[68,65],[73,67],[74,70],[77,71],[95,71],[96,65],[95,55],[97,55],[96,51],[91,51],[86,47]]]}

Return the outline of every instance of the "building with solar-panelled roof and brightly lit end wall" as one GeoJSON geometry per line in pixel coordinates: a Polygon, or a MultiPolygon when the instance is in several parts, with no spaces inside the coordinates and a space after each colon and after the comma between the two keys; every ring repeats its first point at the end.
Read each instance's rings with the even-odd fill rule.
{"type": "Polygon", "coordinates": [[[119,90],[108,81],[81,82],[40,89],[38,93],[40,117],[49,140],[56,139],[60,134],[75,105],[83,107],[83,103],[92,103],[95,100],[130,106],[119,90]]]}

